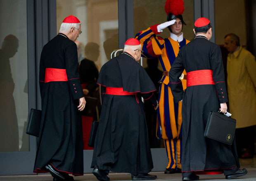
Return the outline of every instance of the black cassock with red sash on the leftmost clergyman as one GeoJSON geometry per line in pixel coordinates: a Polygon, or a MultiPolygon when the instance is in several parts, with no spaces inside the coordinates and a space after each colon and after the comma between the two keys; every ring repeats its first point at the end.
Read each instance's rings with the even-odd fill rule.
{"type": "Polygon", "coordinates": [[[40,59],[42,119],[34,172],[47,172],[52,164],[59,171],[83,175],[83,136],[78,99],[83,97],[76,44],[64,34],[48,42],[40,59]],[[46,70],[52,74],[46,75],[46,70]],[[58,81],[66,70],[66,81],[58,81]],[[52,81],[45,81],[46,77],[52,81]]]}

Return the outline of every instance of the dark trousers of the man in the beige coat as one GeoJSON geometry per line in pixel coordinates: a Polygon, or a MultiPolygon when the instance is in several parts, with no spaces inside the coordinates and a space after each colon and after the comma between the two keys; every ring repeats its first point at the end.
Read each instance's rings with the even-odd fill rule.
{"type": "Polygon", "coordinates": [[[243,149],[247,149],[251,155],[254,155],[256,126],[236,129],[237,152],[239,157],[243,149]]]}

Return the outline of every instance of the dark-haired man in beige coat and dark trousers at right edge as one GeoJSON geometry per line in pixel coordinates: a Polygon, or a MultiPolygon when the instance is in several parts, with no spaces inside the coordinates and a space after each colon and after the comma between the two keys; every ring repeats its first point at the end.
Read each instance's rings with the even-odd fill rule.
{"type": "Polygon", "coordinates": [[[256,125],[256,60],[233,33],[225,36],[228,100],[232,118],[237,120],[237,151],[241,158],[254,155],[256,125]]]}

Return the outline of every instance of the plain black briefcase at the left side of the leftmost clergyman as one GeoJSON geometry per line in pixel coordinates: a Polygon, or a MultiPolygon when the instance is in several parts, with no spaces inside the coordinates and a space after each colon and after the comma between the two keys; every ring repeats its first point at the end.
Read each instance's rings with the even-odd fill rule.
{"type": "Polygon", "coordinates": [[[38,137],[40,122],[41,122],[41,115],[42,115],[41,110],[37,110],[37,109],[30,110],[26,134],[38,137]]]}

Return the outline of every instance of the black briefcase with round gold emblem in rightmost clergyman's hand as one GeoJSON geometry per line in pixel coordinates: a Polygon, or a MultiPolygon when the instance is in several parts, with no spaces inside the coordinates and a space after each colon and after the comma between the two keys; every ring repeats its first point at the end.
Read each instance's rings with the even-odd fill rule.
{"type": "Polygon", "coordinates": [[[232,145],[235,137],[236,120],[211,111],[204,131],[204,137],[232,145]]]}

